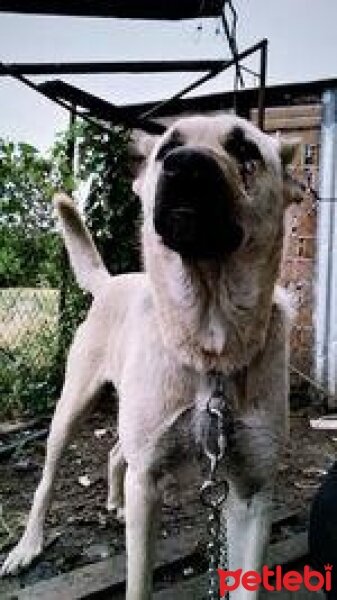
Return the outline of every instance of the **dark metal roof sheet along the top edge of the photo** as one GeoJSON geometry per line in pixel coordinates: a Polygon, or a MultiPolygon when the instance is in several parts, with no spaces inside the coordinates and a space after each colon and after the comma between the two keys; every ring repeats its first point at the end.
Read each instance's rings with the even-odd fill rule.
{"type": "Polygon", "coordinates": [[[221,14],[224,0],[0,0],[0,12],[128,19],[189,19],[221,14]]]}

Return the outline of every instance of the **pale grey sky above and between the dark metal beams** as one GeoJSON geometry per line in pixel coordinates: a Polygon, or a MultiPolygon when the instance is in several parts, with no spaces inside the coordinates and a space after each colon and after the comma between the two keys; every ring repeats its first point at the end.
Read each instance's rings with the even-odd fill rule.
{"type": "MultiPolygon", "coordinates": [[[[337,77],[336,0],[234,0],[234,5],[239,16],[239,50],[264,37],[269,40],[268,84],[337,77]]],[[[2,13],[0,61],[226,59],[229,51],[223,34],[217,34],[218,27],[218,19],[146,22],[2,13]]],[[[258,67],[254,61],[246,64],[258,67]]],[[[131,104],[167,97],[195,77],[82,75],[63,79],[116,104],[131,104]]],[[[222,75],[197,93],[231,90],[232,84],[232,75],[222,75]]],[[[246,84],[254,85],[251,77],[246,84]]],[[[42,151],[68,122],[66,111],[7,77],[0,79],[0,107],[0,136],[31,143],[42,151]]]]}

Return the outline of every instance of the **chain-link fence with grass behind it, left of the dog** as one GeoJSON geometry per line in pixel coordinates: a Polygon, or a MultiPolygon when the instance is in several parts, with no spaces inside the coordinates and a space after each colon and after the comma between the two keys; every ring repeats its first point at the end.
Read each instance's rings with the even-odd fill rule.
{"type": "MultiPolygon", "coordinates": [[[[50,236],[49,243],[55,256],[60,240],[50,236]]],[[[22,283],[0,289],[0,408],[4,414],[46,409],[59,386],[60,286],[46,282],[26,287],[22,283]]]]}

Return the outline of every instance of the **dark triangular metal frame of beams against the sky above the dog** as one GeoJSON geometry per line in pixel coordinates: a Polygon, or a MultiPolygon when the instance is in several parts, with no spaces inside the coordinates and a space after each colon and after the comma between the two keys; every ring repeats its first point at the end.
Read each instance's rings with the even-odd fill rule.
{"type": "Polygon", "coordinates": [[[265,112],[265,87],[267,71],[267,47],[266,39],[261,40],[254,46],[235,55],[231,60],[218,61],[167,61],[167,62],[85,62],[85,63],[18,63],[4,64],[0,63],[0,76],[11,76],[36,92],[57,102],[63,108],[75,112],[83,118],[96,118],[105,120],[113,124],[122,124],[130,128],[143,129],[149,133],[161,133],[165,127],[160,123],[153,121],[152,117],[163,107],[174,105],[174,103],[185,96],[187,93],[200,87],[203,83],[213,79],[220,73],[230,67],[240,67],[241,61],[255,54],[260,54],[260,72],[252,72],[259,77],[260,86],[258,89],[258,124],[261,129],[264,126],[265,112]],[[111,102],[102,100],[89,92],[85,92],[75,86],[69,85],[63,81],[47,81],[42,84],[35,84],[27,75],[56,75],[56,74],[94,74],[94,73],[175,73],[175,72],[208,72],[199,77],[196,81],[174,94],[171,98],[159,102],[149,111],[141,116],[134,116],[128,111],[127,106],[116,106],[111,102]],[[78,107],[89,111],[90,117],[85,112],[78,112],[78,107]],[[151,117],[151,119],[149,118],[151,117]]]}

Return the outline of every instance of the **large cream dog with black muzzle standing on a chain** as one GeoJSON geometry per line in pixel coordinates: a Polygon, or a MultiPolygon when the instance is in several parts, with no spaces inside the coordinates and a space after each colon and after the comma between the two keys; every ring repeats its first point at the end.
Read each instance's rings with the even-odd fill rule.
{"type": "MultiPolygon", "coordinates": [[[[119,442],[109,456],[108,505],[120,509],[125,496],[128,600],[151,598],[160,480],[200,442],[195,422],[213,371],[234,403],[230,568],[261,567],[287,430],[287,307],[275,282],[284,211],[298,198],[287,174],[295,143],[238,117],[181,119],[163,136],[140,137],[139,148],[144,273],[111,277],[73,202],[55,199],[77,281],[93,303],[69,352],[26,530],[2,568],[13,573],[42,551],[62,451],[100,388],[113,382],[119,442]]],[[[242,589],[231,597],[256,595],[242,589]]]]}

